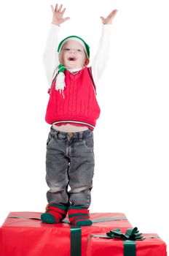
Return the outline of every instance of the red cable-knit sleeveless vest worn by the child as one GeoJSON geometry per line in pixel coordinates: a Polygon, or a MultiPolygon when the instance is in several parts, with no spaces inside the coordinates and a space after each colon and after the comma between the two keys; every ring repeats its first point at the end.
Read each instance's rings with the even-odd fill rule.
{"type": "Polygon", "coordinates": [[[95,85],[87,67],[76,75],[65,71],[63,94],[52,83],[45,120],[48,124],[82,124],[94,128],[101,110],[95,98],[95,85]]]}

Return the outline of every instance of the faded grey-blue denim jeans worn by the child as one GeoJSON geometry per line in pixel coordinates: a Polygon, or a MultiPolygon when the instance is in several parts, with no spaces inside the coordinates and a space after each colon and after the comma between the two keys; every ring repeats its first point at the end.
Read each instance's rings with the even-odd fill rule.
{"type": "Polygon", "coordinates": [[[93,131],[58,132],[51,127],[46,156],[48,203],[89,208],[94,165],[93,131]]]}

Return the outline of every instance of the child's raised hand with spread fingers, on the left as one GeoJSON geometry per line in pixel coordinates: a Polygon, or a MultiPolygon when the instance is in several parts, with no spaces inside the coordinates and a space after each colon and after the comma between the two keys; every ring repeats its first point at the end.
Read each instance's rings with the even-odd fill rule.
{"type": "Polygon", "coordinates": [[[62,10],[63,4],[60,4],[60,7],[58,8],[58,4],[56,4],[55,9],[51,5],[53,17],[52,17],[52,23],[55,25],[60,25],[61,23],[65,22],[66,20],[69,20],[69,17],[63,18],[63,14],[66,11],[66,8],[62,10]]]}

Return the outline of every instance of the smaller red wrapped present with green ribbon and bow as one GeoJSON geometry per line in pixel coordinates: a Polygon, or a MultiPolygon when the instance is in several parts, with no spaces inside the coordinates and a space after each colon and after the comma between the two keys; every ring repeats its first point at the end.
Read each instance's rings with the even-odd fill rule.
{"type": "Polygon", "coordinates": [[[157,234],[138,233],[137,227],[126,231],[129,236],[120,229],[112,231],[90,235],[86,256],[167,256],[166,244],[157,234]]]}

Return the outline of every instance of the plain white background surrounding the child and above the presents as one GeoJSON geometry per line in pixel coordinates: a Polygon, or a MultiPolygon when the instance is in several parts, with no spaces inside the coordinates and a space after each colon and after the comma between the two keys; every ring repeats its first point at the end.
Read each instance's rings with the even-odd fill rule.
{"type": "MultiPolygon", "coordinates": [[[[169,39],[167,0],[62,1],[60,39],[79,35],[91,59],[100,16],[118,9],[111,53],[98,83],[91,212],[123,212],[168,243],[169,39]]],[[[47,80],[42,53],[53,1],[0,4],[0,222],[9,211],[44,211],[47,80]]]]}

